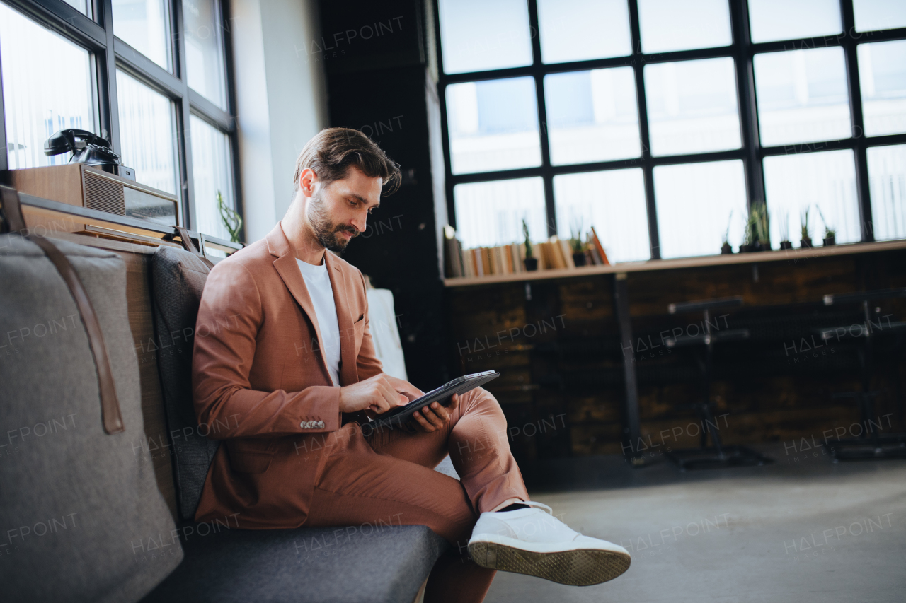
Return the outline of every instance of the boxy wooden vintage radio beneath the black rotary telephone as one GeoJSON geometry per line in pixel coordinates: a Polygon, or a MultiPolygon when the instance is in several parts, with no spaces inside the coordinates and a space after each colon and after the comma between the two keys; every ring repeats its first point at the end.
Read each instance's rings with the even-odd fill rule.
{"type": "MultiPolygon", "coordinates": [[[[11,184],[20,193],[115,215],[128,215],[158,225],[178,224],[176,196],[101,171],[97,167],[71,163],[47,168],[14,169],[9,174],[11,184]]],[[[50,227],[43,219],[47,217],[45,212],[31,207],[28,210],[28,214],[34,214],[33,220],[28,220],[30,225],[50,227]]],[[[61,225],[57,222],[53,229],[68,232],[96,230],[78,224],[78,219],[70,216],[67,219],[69,224],[61,225]]]]}

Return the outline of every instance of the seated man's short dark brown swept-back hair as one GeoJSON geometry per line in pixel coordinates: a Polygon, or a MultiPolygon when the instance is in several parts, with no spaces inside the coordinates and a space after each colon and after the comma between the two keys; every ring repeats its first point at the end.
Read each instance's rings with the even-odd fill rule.
{"type": "Polygon", "coordinates": [[[384,195],[400,187],[400,166],[373,140],[357,129],[325,128],[308,141],[295,160],[295,190],[305,168],[311,168],[328,184],[346,177],[350,166],[361,169],[367,177],[381,177],[384,195]]]}

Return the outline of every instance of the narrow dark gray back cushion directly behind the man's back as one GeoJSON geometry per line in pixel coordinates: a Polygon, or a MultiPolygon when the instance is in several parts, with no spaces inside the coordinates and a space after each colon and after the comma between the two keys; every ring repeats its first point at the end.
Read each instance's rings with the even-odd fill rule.
{"type": "Polygon", "coordinates": [[[207,427],[198,426],[192,402],[192,344],[209,269],[197,255],[161,245],[151,273],[158,371],[173,445],[177,503],[182,518],[191,520],[218,444],[204,436],[207,427]]]}

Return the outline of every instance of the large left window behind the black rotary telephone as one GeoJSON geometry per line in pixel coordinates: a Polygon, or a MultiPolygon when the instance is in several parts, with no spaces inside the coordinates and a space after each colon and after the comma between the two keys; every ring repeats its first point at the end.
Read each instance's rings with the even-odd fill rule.
{"type": "Polygon", "coordinates": [[[138,182],[179,198],[181,225],[229,239],[217,193],[240,205],[224,9],[221,0],[0,0],[0,169],[65,163],[68,154],[44,156],[44,140],[87,129],[110,140],[138,182]]]}

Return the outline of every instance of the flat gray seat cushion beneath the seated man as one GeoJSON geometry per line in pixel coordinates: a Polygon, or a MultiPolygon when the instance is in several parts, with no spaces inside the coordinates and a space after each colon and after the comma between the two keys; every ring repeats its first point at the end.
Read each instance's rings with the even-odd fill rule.
{"type": "MultiPolygon", "coordinates": [[[[186,560],[142,603],[399,603],[448,544],[426,526],[195,531],[186,560]]],[[[188,530],[183,530],[185,533],[188,530]]]]}

